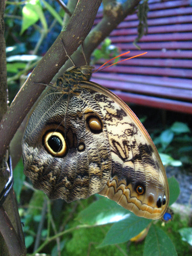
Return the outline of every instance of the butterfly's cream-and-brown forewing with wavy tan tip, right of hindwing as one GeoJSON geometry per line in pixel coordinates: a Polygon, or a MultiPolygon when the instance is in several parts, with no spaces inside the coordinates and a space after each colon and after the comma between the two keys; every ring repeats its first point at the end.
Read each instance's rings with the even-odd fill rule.
{"type": "Polygon", "coordinates": [[[160,218],[169,204],[169,187],[157,149],[124,102],[99,84],[91,86],[105,118],[112,156],[111,177],[99,194],[138,216],[160,218]]]}

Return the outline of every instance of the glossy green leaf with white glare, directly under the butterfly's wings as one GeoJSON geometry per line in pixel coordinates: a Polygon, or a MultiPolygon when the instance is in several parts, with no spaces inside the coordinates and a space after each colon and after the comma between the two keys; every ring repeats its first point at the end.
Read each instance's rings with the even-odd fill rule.
{"type": "Polygon", "coordinates": [[[129,214],[128,210],[116,202],[102,198],[82,210],[77,216],[77,220],[88,225],[104,225],[122,220],[129,214]]]}

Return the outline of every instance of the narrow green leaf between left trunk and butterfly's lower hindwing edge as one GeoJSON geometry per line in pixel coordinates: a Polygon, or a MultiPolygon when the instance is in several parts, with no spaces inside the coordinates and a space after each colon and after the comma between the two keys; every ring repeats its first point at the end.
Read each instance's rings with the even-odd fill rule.
{"type": "Polygon", "coordinates": [[[14,169],[13,172],[13,177],[14,177],[14,183],[13,183],[13,188],[15,190],[16,196],[17,196],[17,201],[20,201],[20,192],[23,187],[23,181],[25,180],[25,175],[23,174],[23,162],[22,159],[19,160],[17,163],[17,166],[14,169]]]}

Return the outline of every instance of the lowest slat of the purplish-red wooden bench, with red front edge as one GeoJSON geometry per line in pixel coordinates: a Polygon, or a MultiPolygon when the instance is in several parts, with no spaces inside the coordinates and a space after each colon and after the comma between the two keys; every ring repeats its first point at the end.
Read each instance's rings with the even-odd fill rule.
{"type": "Polygon", "coordinates": [[[161,99],[152,96],[138,95],[134,93],[124,93],[113,90],[112,92],[127,103],[134,103],[138,105],[145,105],[150,108],[161,108],[176,112],[192,114],[192,103],[181,102],[171,99],[161,99]]]}

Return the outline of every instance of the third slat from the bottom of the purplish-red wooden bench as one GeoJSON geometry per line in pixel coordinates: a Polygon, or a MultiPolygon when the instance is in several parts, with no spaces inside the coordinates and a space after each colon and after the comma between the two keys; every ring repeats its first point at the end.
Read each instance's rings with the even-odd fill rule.
{"type": "Polygon", "coordinates": [[[180,88],[186,90],[192,90],[192,80],[191,79],[180,79],[180,78],[171,78],[171,77],[159,77],[159,76],[142,76],[142,75],[130,75],[130,74],[111,74],[103,72],[93,73],[92,77],[94,79],[105,79],[109,81],[116,80],[129,83],[142,83],[151,84],[161,87],[171,87],[171,88],[180,88]]]}

